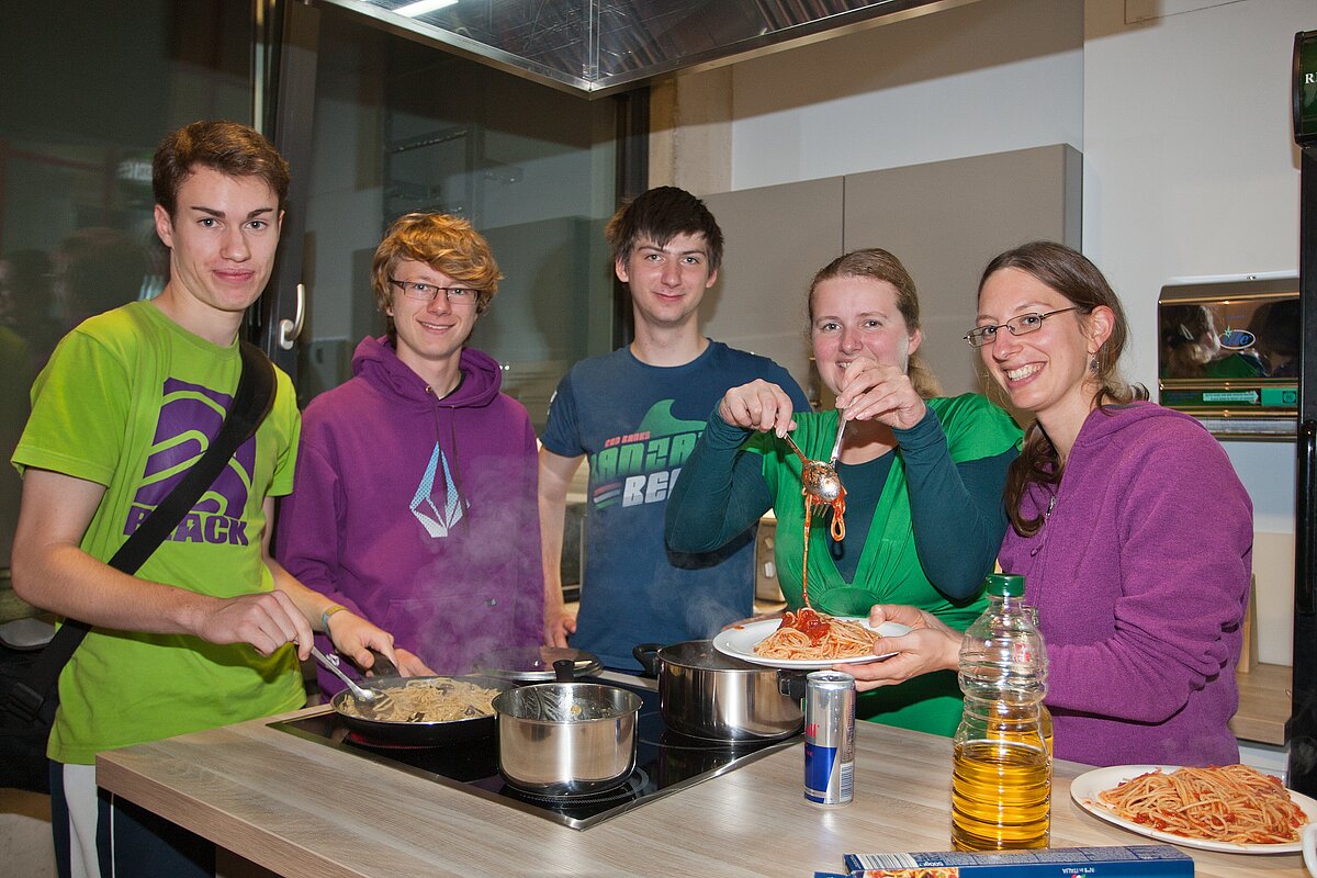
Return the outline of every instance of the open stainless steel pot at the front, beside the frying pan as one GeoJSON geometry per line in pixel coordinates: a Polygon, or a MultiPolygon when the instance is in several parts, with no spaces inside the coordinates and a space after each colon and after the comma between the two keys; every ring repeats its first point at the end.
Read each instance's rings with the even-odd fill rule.
{"type": "Polygon", "coordinates": [[[640,696],[602,683],[536,683],[502,692],[499,774],[541,795],[618,786],[636,765],[640,696]]]}

